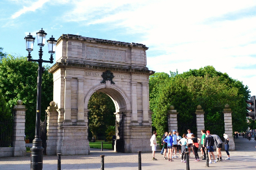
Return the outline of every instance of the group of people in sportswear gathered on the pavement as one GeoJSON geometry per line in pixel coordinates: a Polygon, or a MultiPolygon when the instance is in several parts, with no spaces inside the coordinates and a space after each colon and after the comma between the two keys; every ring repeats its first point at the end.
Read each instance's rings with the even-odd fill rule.
{"type": "MultiPolygon", "coordinates": [[[[212,155],[213,162],[219,162],[222,161],[222,155],[221,155],[221,148],[222,148],[222,140],[219,138],[218,135],[211,135],[210,131],[207,130],[205,133],[205,130],[201,130],[202,138],[197,138],[193,133],[191,133],[190,129],[187,130],[187,134],[184,133],[181,136],[179,136],[179,132],[176,132],[176,130],[173,130],[173,132],[165,132],[163,135],[163,138],[161,139],[161,145],[163,145],[163,149],[161,151],[161,154],[164,155],[164,159],[168,159],[168,161],[173,161],[172,158],[179,158],[177,156],[177,150],[179,150],[180,156],[182,157],[181,162],[186,163],[186,156],[185,152],[189,152],[190,156],[190,150],[192,148],[195,161],[199,161],[199,155],[198,155],[198,148],[199,143],[201,142],[202,147],[200,148],[200,151],[202,153],[202,160],[206,160],[206,149],[208,149],[208,155],[209,155],[209,164],[212,163],[210,155],[212,155]],[[215,159],[215,155],[213,154],[213,145],[216,146],[216,152],[217,152],[217,159],[215,159]],[[166,156],[166,152],[168,153],[168,158],[166,156]],[[183,161],[184,159],[184,161],[183,161]]],[[[155,151],[157,146],[157,140],[156,140],[157,132],[153,132],[153,136],[150,139],[152,151],[153,151],[153,160],[157,161],[155,158],[155,151]]],[[[229,158],[229,138],[228,135],[225,133],[223,134],[223,137],[225,139],[224,145],[225,145],[225,151],[228,155],[228,158],[226,160],[230,160],[229,158]]]]}

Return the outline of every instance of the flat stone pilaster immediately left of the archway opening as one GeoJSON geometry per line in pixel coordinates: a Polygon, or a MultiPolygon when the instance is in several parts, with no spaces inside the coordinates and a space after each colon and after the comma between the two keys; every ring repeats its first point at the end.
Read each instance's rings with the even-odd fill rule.
{"type": "Polygon", "coordinates": [[[85,103],[83,94],[83,81],[84,79],[77,78],[78,81],[78,94],[77,94],[77,125],[85,125],[85,103]]]}

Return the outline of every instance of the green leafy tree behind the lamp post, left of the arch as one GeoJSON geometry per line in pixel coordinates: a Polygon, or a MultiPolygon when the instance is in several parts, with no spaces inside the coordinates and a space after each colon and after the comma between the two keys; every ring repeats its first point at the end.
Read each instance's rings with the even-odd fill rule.
{"type": "MultiPolygon", "coordinates": [[[[7,107],[12,108],[17,100],[22,100],[26,108],[25,134],[34,139],[35,110],[37,104],[37,69],[38,64],[28,62],[26,57],[7,55],[0,63],[0,89],[7,102],[7,107]]],[[[46,70],[48,66],[46,67],[46,70]]],[[[41,93],[41,119],[45,117],[44,110],[53,100],[53,75],[43,73],[41,93]]]]}

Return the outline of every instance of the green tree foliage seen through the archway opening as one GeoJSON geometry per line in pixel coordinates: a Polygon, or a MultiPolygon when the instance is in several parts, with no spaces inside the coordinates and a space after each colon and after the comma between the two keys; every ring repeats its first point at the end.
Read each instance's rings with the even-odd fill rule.
{"type": "Polygon", "coordinates": [[[90,109],[88,113],[89,130],[95,139],[98,139],[99,134],[105,135],[108,126],[115,126],[115,105],[105,93],[93,93],[88,103],[88,109],[90,109]]]}

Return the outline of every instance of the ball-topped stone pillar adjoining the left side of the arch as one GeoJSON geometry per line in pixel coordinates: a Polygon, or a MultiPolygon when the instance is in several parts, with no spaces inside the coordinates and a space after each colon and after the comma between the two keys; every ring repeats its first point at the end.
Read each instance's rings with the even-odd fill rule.
{"type": "Polygon", "coordinates": [[[55,102],[50,102],[50,106],[47,107],[47,155],[57,155],[57,139],[58,139],[58,107],[55,106],[55,102]]]}

